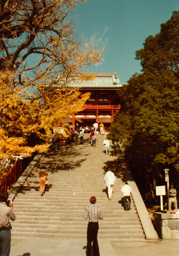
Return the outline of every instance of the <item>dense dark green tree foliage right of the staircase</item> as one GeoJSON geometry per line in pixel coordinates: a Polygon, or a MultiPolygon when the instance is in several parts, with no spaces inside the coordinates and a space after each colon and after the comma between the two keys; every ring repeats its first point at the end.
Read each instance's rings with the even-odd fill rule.
{"type": "Polygon", "coordinates": [[[136,182],[149,199],[156,185],[165,185],[165,168],[170,169],[170,184],[178,185],[179,11],[143,45],[136,51],[142,74],[133,75],[120,89],[121,111],[110,138],[125,147],[136,182]]]}

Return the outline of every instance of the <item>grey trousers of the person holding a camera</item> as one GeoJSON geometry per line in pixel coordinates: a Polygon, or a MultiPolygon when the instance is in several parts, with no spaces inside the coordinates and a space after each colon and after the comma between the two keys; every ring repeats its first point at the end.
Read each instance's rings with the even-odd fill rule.
{"type": "Polygon", "coordinates": [[[9,256],[11,249],[11,230],[0,230],[0,255],[9,256]]]}

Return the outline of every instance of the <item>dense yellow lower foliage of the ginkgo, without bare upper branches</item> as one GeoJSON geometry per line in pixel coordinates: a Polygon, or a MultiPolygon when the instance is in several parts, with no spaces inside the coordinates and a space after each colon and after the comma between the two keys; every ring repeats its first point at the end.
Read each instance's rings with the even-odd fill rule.
{"type": "MultiPolygon", "coordinates": [[[[51,130],[59,123],[68,135],[64,118],[82,110],[89,93],[77,89],[48,88],[42,98],[21,88],[8,89],[8,74],[0,74],[0,158],[24,158],[34,151],[46,150],[51,143],[51,130]]],[[[40,89],[45,91],[46,86],[40,89]]],[[[39,94],[40,95],[40,94],[39,94]]],[[[66,135],[66,136],[67,136],[66,135]]]]}

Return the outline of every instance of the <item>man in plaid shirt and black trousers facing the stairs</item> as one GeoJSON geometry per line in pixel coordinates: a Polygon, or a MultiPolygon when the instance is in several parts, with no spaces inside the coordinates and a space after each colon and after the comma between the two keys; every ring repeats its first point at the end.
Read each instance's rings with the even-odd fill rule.
{"type": "Polygon", "coordinates": [[[86,208],[84,219],[89,217],[88,228],[87,228],[87,256],[91,256],[91,245],[93,242],[93,256],[100,256],[98,246],[98,220],[103,219],[101,208],[95,205],[96,197],[90,197],[91,205],[86,208]]]}

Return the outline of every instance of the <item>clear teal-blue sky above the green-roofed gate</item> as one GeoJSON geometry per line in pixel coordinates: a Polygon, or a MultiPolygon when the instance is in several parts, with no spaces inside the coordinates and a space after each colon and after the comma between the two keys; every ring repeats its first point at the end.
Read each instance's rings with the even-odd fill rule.
{"type": "Polygon", "coordinates": [[[90,67],[88,72],[118,72],[120,82],[140,73],[140,61],[135,51],[143,47],[147,36],[160,32],[160,24],[179,10],[178,0],[89,0],[79,4],[73,15],[78,16],[76,32],[84,41],[96,34],[106,42],[102,64],[90,67]]]}

